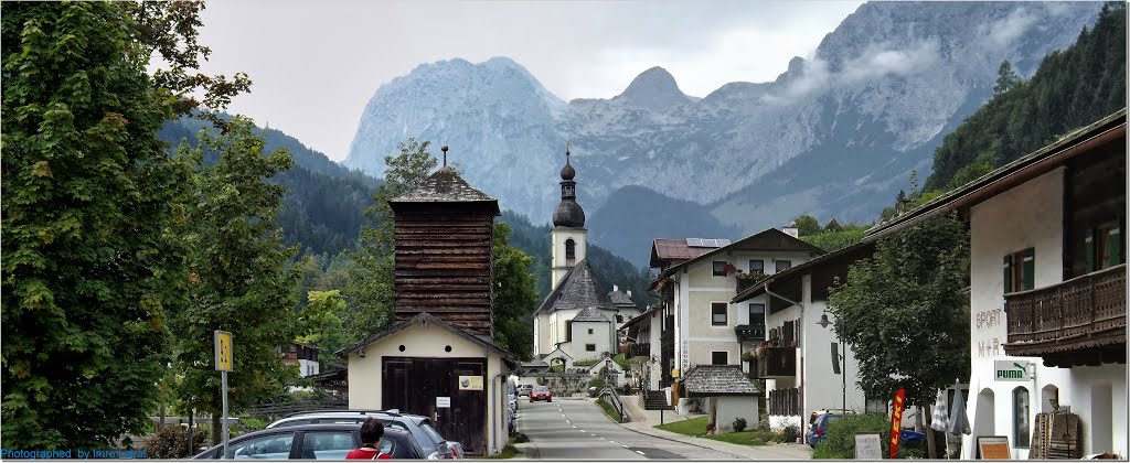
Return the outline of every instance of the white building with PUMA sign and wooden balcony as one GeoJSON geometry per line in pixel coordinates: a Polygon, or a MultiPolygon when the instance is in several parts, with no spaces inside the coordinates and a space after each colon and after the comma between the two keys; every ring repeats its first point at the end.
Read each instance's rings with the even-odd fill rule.
{"type": "Polygon", "coordinates": [[[1128,455],[1125,152],[1122,110],[870,231],[954,210],[968,221],[963,458],[977,436],[1007,436],[1015,458],[1049,444],[1128,455]]]}

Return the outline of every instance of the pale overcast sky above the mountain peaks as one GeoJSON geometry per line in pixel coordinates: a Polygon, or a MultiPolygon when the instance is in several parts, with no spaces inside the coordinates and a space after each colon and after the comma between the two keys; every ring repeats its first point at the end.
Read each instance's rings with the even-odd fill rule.
{"type": "Polygon", "coordinates": [[[223,0],[207,3],[205,72],[246,72],[251,116],[333,160],[381,85],[423,63],[508,56],[557,97],[611,98],[660,65],[706,96],[772,81],[855,0],[223,0]]]}

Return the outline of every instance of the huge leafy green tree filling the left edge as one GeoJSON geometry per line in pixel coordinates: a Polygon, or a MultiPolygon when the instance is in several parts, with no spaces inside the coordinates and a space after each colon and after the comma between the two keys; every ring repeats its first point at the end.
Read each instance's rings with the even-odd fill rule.
{"type": "Polygon", "coordinates": [[[192,71],[208,54],[202,8],[2,6],[6,447],[106,446],[148,426],[184,283],[171,230],[191,175],[156,132],[249,84],[192,71]],[[150,56],[166,63],[156,76],[150,56]]]}

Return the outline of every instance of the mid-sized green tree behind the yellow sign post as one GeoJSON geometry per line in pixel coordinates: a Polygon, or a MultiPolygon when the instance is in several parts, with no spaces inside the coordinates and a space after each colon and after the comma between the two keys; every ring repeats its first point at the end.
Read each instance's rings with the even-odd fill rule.
{"type": "MultiPolygon", "coordinates": [[[[285,186],[267,183],[290,168],[286,150],[263,155],[263,140],[250,120],[235,117],[224,134],[201,133],[192,157],[202,150],[219,161],[195,173],[185,242],[189,262],[188,307],[171,323],[176,344],[173,366],[177,402],[212,417],[212,440],[220,438],[220,375],[214,370],[212,332],[232,333],[234,370],[228,374],[229,409],[238,412],[280,393],[296,378],[277,353],[298,332],[301,273],[287,265],[296,247],[281,244],[278,215],[285,186]]],[[[188,154],[188,143],[181,152],[188,154]]]]}

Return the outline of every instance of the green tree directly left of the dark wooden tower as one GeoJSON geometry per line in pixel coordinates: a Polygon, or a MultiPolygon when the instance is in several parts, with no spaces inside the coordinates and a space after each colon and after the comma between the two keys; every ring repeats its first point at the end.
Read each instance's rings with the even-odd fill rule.
{"type": "Polygon", "coordinates": [[[416,187],[435,168],[427,148],[429,141],[415,138],[400,143],[400,152],[385,156],[384,184],[373,194],[374,204],[365,209],[370,220],[362,227],[357,248],[349,253],[349,282],[346,285],[346,333],[359,340],[392,323],[395,234],[389,200],[416,187]]]}

